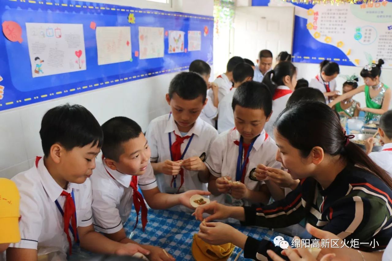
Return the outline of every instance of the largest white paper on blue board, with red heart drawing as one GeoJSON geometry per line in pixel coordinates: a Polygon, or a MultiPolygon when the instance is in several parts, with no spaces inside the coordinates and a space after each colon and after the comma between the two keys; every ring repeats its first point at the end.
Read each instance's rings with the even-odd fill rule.
{"type": "Polygon", "coordinates": [[[33,78],[86,69],[83,24],[26,23],[33,78]]]}

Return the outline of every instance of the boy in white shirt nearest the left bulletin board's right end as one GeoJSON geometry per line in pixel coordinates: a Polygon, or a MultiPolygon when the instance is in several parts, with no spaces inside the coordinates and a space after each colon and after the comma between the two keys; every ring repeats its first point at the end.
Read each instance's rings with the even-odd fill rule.
{"type": "MultiPolygon", "coordinates": [[[[208,63],[204,62],[203,60],[194,60],[189,65],[190,72],[196,72],[200,74],[200,76],[205,80],[207,83],[207,89],[212,90],[212,99],[207,98],[207,103],[204,108],[201,110],[200,118],[203,119],[205,122],[211,124],[212,127],[215,127],[215,118],[218,115],[218,85],[216,83],[209,82],[209,78],[211,75],[211,67],[208,63]]],[[[208,93],[207,90],[207,93],[208,93]]]]}

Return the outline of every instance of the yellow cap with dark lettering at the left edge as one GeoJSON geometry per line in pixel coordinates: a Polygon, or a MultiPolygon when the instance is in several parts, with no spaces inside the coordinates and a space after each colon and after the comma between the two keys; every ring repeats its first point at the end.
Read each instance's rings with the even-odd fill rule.
{"type": "Polygon", "coordinates": [[[15,183],[0,178],[0,244],[20,241],[19,199],[15,183]]]}

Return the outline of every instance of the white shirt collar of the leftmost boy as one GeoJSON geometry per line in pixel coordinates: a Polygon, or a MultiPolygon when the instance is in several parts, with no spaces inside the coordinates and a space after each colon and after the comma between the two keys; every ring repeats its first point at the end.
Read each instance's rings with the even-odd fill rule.
{"type": "MultiPolygon", "coordinates": [[[[53,179],[51,174],[49,174],[49,171],[44,164],[44,158],[41,158],[38,161],[38,167],[36,169],[38,171],[38,175],[41,179],[41,184],[44,187],[46,194],[49,196],[52,202],[56,201],[56,199],[60,196],[64,189],[60,187],[60,185],[58,185],[57,182],[53,179]]],[[[77,184],[69,182],[68,187],[65,191],[71,193],[73,189],[78,189],[77,184]]]]}

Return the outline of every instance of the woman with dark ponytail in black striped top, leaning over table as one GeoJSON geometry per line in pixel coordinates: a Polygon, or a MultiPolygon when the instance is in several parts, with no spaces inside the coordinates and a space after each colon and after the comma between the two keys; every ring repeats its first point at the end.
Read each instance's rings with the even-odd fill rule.
{"type": "MultiPolygon", "coordinates": [[[[198,236],[214,245],[231,242],[244,249],[245,258],[267,260],[268,249],[280,254],[281,248],[210,221],[234,217],[243,225],[278,228],[306,218],[346,242],[358,241],[361,250],[385,249],[392,237],[392,179],[350,141],[335,112],[318,101],[299,102],[282,112],[274,132],[276,160],[293,179],[300,179],[298,187],[270,205],[199,206],[197,219],[203,221],[203,212],[212,215],[200,225],[198,236]]],[[[257,168],[255,176],[283,174],[280,169],[257,168]]],[[[363,260],[361,253],[352,260],[363,260]]]]}

